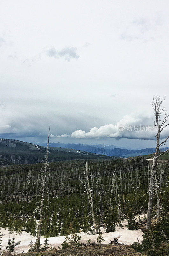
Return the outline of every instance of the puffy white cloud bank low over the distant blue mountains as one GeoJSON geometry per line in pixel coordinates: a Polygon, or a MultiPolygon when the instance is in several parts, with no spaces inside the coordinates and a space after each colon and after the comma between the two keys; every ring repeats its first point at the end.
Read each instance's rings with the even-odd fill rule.
{"type": "MultiPolygon", "coordinates": [[[[139,139],[139,140],[156,140],[157,127],[154,126],[152,118],[147,116],[126,115],[117,124],[106,124],[100,128],[93,127],[89,132],[77,130],[70,135],[62,134],[51,137],[71,137],[71,138],[115,138],[115,139],[139,139]]],[[[169,129],[163,130],[161,139],[166,138],[169,134],[169,129]]]]}

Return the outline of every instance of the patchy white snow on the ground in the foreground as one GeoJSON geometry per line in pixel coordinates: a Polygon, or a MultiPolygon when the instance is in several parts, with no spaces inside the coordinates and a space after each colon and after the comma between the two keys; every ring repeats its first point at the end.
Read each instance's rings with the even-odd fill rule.
{"type": "MultiPolygon", "coordinates": [[[[145,216],[146,216],[146,214],[145,214],[145,216]]],[[[140,218],[144,218],[144,214],[140,215],[140,218]]],[[[138,219],[138,217],[137,217],[137,219],[138,219]]],[[[140,229],[133,230],[133,231],[127,230],[127,228],[125,227],[126,224],[127,224],[127,221],[124,220],[123,229],[121,229],[117,226],[115,232],[109,232],[109,233],[105,233],[104,227],[100,228],[101,232],[102,232],[103,239],[104,239],[103,243],[109,244],[110,240],[113,240],[114,237],[117,237],[119,235],[122,236],[118,239],[119,243],[132,244],[132,243],[134,243],[135,240],[137,241],[137,238],[141,242],[144,233],[140,229]]],[[[35,240],[36,240],[36,237],[33,237],[30,234],[27,234],[25,231],[23,231],[21,235],[19,235],[19,234],[15,235],[15,232],[10,234],[8,228],[7,229],[1,228],[1,232],[3,234],[3,237],[2,237],[3,247],[1,250],[6,250],[5,246],[7,245],[7,240],[8,240],[9,236],[11,237],[11,239],[13,236],[15,236],[16,242],[21,241],[20,244],[15,247],[16,253],[20,253],[23,251],[24,251],[24,253],[27,252],[31,240],[32,240],[33,244],[35,243],[35,240]]],[[[85,235],[83,232],[79,233],[78,235],[81,236],[80,242],[83,242],[83,243],[86,243],[88,241],[88,239],[91,239],[91,242],[96,242],[97,237],[98,237],[98,235],[85,235]]],[[[47,239],[48,239],[48,244],[55,246],[55,248],[57,249],[58,246],[61,247],[62,242],[65,241],[65,236],[48,237],[47,239]]],[[[44,240],[45,240],[44,236],[41,236],[40,243],[42,245],[44,243],[44,240]]]]}

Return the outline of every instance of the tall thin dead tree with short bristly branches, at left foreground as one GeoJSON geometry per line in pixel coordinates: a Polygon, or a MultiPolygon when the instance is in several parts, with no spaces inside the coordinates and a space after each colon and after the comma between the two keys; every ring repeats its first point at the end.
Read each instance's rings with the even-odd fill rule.
{"type": "MultiPolygon", "coordinates": [[[[50,132],[50,126],[49,126],[49,132],[50,132]]],[[[37,240],[36,240],[36,251],[39,251],[40,247],[40,234],[41,234],[41,227],[42,227],[42,212],[43,208],[46,208],[44,205],[44,198],[45,198],[45,193],[46,193],[46,183],[47,183],[47,177],[50,175],[48,172],[49,168],[49,163],[48,163],[48,154],[49,154],[49,134],[48,134],[48,144],[47,144],[47,150],[46,150],[46,160],[44,162],[45,167],[41,169],[39,173],[39,194],[40,196],[40,201],[37,202],[36,204],[39,204],[36,208],[36,211],[39,212],[39,226],[38,226],[38,234],[37,234],[37,240]]]]}

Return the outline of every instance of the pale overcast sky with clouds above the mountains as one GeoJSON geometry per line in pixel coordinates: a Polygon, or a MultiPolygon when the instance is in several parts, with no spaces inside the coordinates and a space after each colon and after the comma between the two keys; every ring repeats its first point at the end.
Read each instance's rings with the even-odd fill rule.
{"type": "Polygon", "coordinates": [[[154,148],[153,95],[169,112],[168,11],[168,0],[1,0],[0,137],[46,142],[50,124],[50,142],[154,148]]]}

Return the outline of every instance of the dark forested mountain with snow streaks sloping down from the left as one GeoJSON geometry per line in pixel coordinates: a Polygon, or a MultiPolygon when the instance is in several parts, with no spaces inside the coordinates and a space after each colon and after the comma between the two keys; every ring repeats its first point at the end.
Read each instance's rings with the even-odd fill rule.
{"type": "MultiPolygon", "coordinates": [[[[100,151],[102,152],[102,150],[100,151]]],[[[20,140],[0,139],[0,165],[42,163],[46,148],[20,140]]],[[[112,159],[110,156],[84,150],[49,149],[49,162],[74,159],[112,159]]]]}

